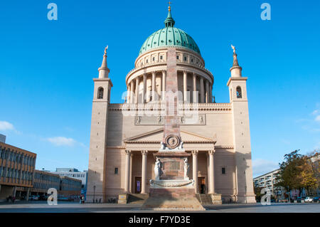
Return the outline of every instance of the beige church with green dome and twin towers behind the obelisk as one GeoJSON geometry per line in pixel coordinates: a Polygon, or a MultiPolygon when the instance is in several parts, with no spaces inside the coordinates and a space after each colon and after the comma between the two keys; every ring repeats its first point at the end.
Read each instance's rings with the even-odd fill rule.
{"type": "Polygon", "coordinates": [[[146,38],[134,69],[125,77],[124,103],[110,103],[112,75],[105,48],[99,76],[93,79],[87,201],[149,194],[153,154],[164,139],[167,53],[174,48],[181,141],[191,154],[188,178],[194,181],[195,193],[220,194],[228,202],[255,202],[247,78],[242,77],[232,47],[230,78],[225,81],[228,103],[215,102],[213,73],[206,69],[196,41],[176,28],[170,6],[164,28],[146,38]]]}

